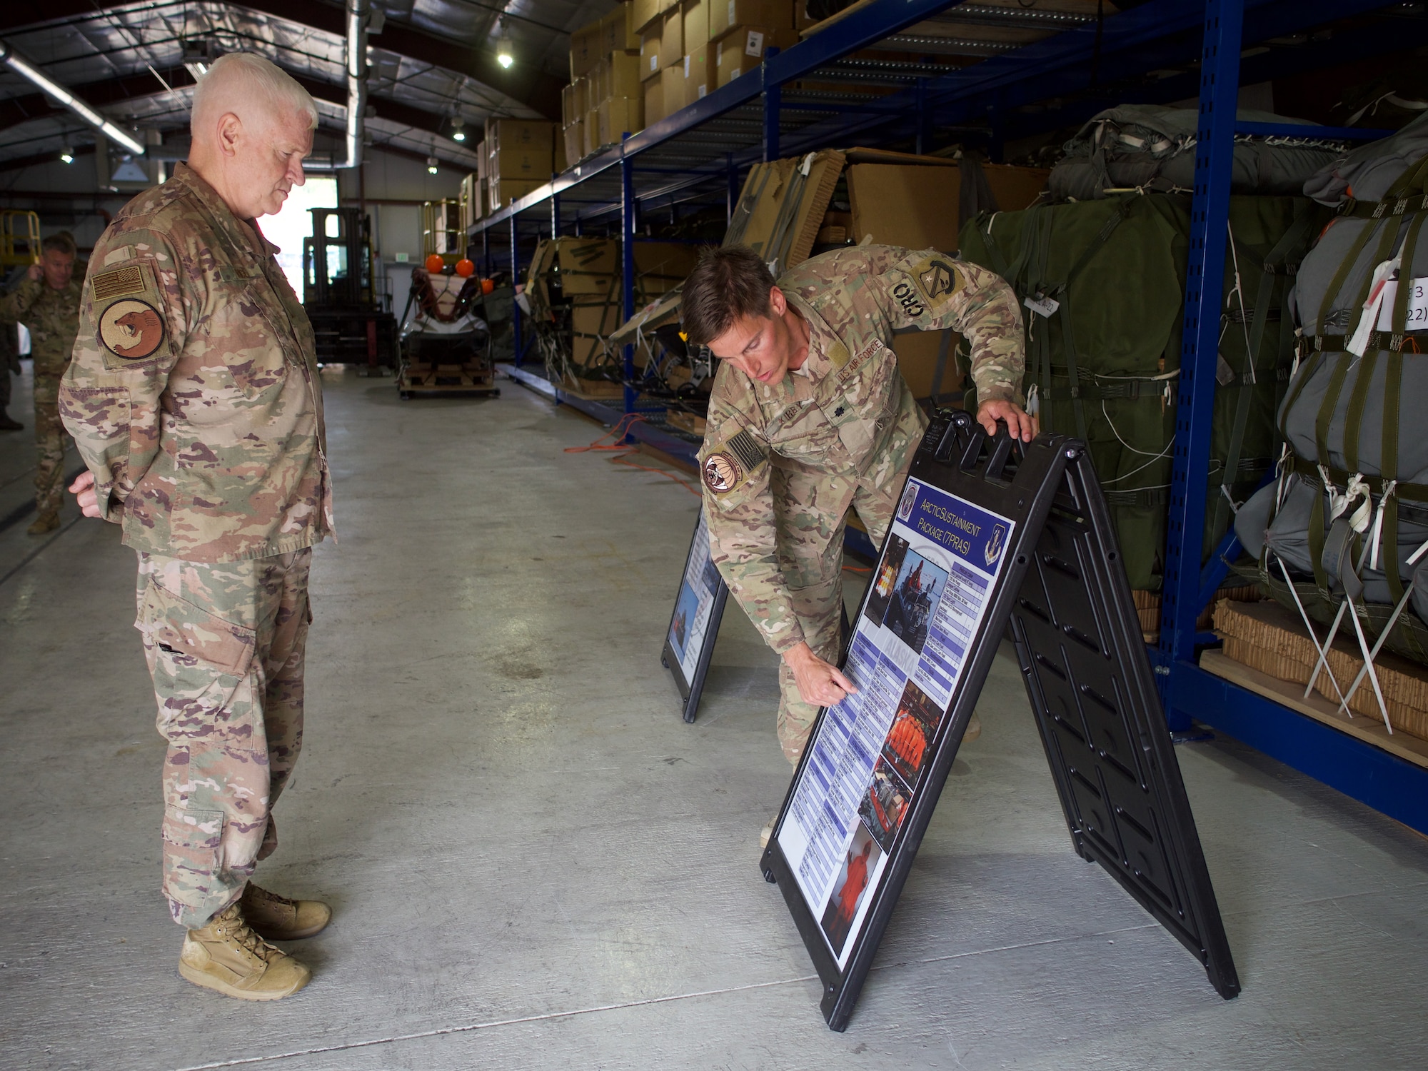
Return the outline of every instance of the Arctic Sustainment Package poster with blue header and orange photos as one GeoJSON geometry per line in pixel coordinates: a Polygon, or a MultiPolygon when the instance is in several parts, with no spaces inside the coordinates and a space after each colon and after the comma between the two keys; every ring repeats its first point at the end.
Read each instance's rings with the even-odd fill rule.
{"type": "Polygon", "coordinates": [[[838,970],[947,721],[1015,523],[908,480],[858,614],[858,687],[810,741],[778,845],[838,970]]]}

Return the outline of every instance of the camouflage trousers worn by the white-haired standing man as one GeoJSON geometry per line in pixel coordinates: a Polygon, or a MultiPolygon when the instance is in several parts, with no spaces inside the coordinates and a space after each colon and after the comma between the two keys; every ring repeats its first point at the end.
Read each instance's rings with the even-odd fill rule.
{"type": "Polygon", "coordinates": [[[140,553],[139,618],[164,758],[163,892],[197,928],[277,847],[303,745],[311,547],[231,563],[140,553]]]}

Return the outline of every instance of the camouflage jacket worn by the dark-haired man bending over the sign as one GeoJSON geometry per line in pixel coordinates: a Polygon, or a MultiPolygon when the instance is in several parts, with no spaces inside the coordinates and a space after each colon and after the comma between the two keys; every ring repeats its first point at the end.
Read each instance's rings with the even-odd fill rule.
{"type": "Polygon", "coordinates": [[[897,328],[965,336],[981,400],[1018,397],[1025,353],[1011,287],[937,250],[835,250],[784,273],[778,288],[808,323],[808,376],[765,386],[721,361],[700,471],[714,563],[783,654],[804,634],[778,565],[771,468],[834,477],[835,500],[798,506],[841,517],[860,483],[907,467],[925,417],[890,348],[897,328]]]}

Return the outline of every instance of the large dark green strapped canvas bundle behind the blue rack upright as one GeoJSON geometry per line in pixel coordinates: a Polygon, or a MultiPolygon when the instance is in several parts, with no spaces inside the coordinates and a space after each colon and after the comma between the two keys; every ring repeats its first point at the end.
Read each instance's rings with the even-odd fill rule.
{"type": "MultiPolygon", "coordinates": [[[[1044,431],[1091,447],[1131,587],[1160,591],[1190,248],[1182,193],[984,213],[961,256],[1022,301],[1022,391],[1044,431]]],[[[1294,273],[1328,213],[1304,197],[1231,197],[1205,480],[1205,557],[1274,466],[1274,413],[1294,356],[1294,273]]],[[[968,407],[975,404],[970,398],[968,407]]]]}

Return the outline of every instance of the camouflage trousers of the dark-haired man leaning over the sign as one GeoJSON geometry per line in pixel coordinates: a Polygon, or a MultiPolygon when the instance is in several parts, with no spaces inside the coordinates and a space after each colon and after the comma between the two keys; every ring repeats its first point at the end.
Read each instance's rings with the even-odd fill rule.
{"type": "MultiPolygon", "coordinates": [[[[874,545],[883,544],[892,514],[897,511],[907,471],[907,463],[883,480],[860,484],[853,493],[853,508],[868,530],[874,545]]],[[[820,658],[838,663],[838,640],[843,623],[843,530],[847,527],[845,507],[820,510],[807,503],[847,503],[840,491],[848,481],[813,470],[778,466],[770,474],[774,513],[778,524],[778,564],[794,604],[794,614],[803,627],[804,640],[820,658]]],[[[818,707],[804,703],[788,663],[778,663],[778,743],[784,758],[798,763],[818,707]]]]}

